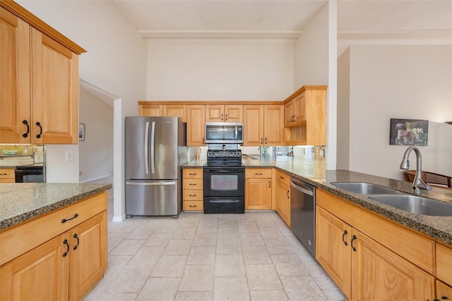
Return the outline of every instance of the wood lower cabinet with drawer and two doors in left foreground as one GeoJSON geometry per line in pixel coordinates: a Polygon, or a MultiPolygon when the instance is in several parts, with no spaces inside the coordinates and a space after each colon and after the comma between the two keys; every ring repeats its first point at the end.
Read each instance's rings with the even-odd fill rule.
{"type": "MultiPolygon", "coordinates": [[[[68,220],[72,228],[0,266],[0,300],[81,300],[100,281],[107,269],[107,194],[102,192],[66,209],[73,209],[72,216],[77,214],[75,219],[68,220]],[[96,203],[95,211],[93,215],[86,216],[86,202],[92,199],[96,203]],[[105,206],[97,213],[97,204],[100,203],[105,206]],[[76,222],[78,216],[81,223],[76,222]]],[[[63,212],[64,216],[68,213],[67,210],[63,212]]],[[[61,211],[57,211],[41,218],[40,228],[33,227],[32,231],[21,228],[27,227],[25,223],[3,232],[1,248],[30,249],[28,241],[34,244],[33,236],[52,226],[55,221],[52,215],[56,215],[57,222],[62,223],[61,211]],[[11,245],[16,240],[11,231],[17,231],[19,241],[24,243],[11,245]]],[[[58,225],[55,226],[58,228],[58,225]]]]}

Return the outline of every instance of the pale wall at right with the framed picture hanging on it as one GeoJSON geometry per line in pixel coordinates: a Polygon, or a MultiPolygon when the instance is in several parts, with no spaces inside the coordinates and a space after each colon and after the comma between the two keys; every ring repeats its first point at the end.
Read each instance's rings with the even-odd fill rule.
{"type": "MultiPolygon", "coordinates": [[[[350,59],[350,144],[338,141],[338,148],[348,153],[348,169],[402,179],[406,147],[388,144],[389,123],[412,118],[429,120],[428,146],[419,147],[422,168],[450,175],[452,126],[444,121],[452,120],[452,46],[351,46],[347,56],[339,66],[350,59]]],[[[414,169],[414,155],[410,161],[414,169]]]]}

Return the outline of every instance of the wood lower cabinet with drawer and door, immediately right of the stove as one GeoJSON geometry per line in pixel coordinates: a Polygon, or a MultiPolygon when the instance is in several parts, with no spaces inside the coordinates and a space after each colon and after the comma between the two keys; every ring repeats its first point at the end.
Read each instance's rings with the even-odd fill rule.
{"type": "Polygon", "coordinates": [[[271,209],[271,168],[245,169],[245,209],[271,209]]]}

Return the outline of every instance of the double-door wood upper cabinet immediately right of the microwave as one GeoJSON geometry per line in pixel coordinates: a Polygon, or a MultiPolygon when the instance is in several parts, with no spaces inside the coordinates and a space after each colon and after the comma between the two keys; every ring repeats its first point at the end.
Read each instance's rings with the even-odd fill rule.
{"type": "Polygon", "coordinates": [[[284,106],[244,105],[244,146],[284,145],[284,106]]]}

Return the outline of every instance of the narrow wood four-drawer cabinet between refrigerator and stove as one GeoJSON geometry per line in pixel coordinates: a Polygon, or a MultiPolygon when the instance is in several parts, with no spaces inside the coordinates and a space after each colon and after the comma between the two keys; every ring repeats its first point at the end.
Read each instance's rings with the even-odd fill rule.
{"type": "Polygon", "coordinates": [[[204,210],[203,168],[184,168],[182,187],[182,209],[184,211],[204,210]]]}

